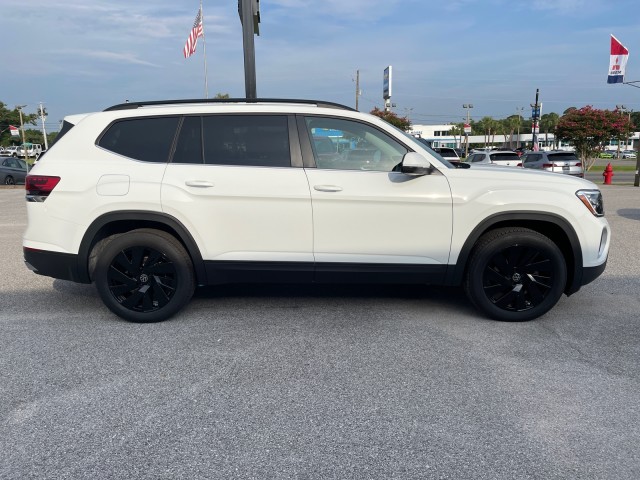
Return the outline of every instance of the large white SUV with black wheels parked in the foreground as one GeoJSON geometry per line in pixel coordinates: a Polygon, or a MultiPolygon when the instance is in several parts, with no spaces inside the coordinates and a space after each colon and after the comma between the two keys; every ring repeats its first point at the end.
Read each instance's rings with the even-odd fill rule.
{"type": "Polygon", "coordinates": [[[602,273],[593,183],[468,167],[336,104],[116,105],[67,117],[27,176],[24,257],[134,322],[229,282],[462,286],[529,320],[602,273]]]}

